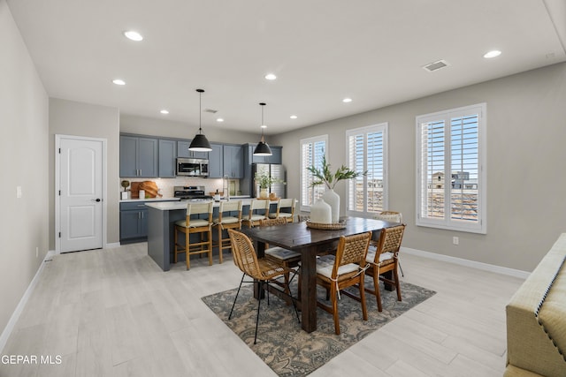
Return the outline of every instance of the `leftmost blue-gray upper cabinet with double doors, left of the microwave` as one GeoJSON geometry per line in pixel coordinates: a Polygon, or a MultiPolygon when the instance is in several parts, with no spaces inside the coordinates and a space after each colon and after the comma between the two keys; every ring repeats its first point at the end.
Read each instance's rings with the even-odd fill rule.
{"type": "Polygon", "coordinates": [[[120,177],[157,177],[157,139],[120,136],[120,177]]]}

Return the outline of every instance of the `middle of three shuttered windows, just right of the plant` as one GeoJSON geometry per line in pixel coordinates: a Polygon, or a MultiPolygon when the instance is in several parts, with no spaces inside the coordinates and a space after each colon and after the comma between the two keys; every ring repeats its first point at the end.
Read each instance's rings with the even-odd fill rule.
{"type": "Polygon", "coordinates": [[[348,168],[368,172],[348,181],[347,212],[368,217],[387,208],[387,124],[348,130],[346,140],[348,168]]]}

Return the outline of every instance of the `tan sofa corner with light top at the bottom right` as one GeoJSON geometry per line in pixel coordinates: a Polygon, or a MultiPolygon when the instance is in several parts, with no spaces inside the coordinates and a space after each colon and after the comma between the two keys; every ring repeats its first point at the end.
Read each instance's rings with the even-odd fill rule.
{"type": "Polygon", "coordinates": [[[566,376],[566,233],[506,307],[510,376],[566,376]]]}

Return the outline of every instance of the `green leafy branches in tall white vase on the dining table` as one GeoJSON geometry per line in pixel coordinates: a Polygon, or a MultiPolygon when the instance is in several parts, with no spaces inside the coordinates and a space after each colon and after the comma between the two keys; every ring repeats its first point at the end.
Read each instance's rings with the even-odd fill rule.
{"type": "Polygon", "coordinates": [[[345,165],[340,166],[336,172],[330,170],[330,163],[326,162],[325,155],[322,156],[320,168],[316,166],[309,166],[307,170],[315,177],[315,180],[310,184],[311,186],[326,185],[326,192],[322,198],[326,203],[332,207],[332,222],[339,222],[340,219],[340,196],[334,192],[334,186],[340,181],[346,179],[354,179],[360,176],[367,176],[367,170],[363,172],[350,170],[345,165]]]}

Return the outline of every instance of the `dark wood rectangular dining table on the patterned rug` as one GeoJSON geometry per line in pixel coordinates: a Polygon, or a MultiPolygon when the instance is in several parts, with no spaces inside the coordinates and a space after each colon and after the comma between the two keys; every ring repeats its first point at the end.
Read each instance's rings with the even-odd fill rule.
{"type": "MultiPolygon", "coordinates": [[[[339,230],[318,230],[307,226],[307,222],[290,222],[271,227],[242,228],[254,241],[258,257],[264,257],[265,244],[280,246],[301,253],[301,298],[302,329],[310,333],[317,329],[317,254],[335,250],[340,236],[350,236],[376,231],[396,225],[362,217],[342,217],[346,226],[339,230]]],[[[261,299],[263,292],[255,291],[261,299]]]]}

